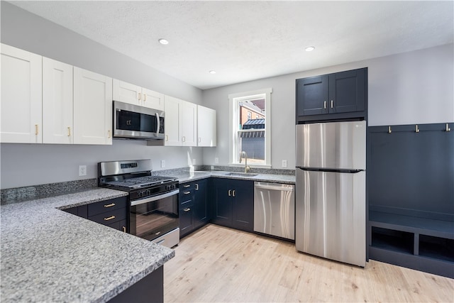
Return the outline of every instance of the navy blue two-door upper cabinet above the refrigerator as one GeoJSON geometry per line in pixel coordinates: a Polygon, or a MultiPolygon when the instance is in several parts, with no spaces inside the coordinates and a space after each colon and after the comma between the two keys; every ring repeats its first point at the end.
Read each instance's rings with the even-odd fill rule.
{"type": "Polygon", "coordinates": [[[367,116],[367,67],[297,79],[297,123],[367,116]]]}

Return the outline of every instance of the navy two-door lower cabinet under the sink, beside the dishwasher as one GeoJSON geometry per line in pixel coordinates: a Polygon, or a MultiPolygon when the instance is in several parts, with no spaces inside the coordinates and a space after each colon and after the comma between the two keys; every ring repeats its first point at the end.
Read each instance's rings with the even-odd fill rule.
{"type": "Polygon", "coordinates": [[[214,224],[253,231],[254,183],[247,180],[214,179],[214,224]]]}

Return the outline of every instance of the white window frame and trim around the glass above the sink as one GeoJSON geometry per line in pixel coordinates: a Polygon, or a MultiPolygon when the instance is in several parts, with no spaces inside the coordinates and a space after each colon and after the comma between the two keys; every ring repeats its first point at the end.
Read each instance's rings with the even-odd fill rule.
{"type": "Polygon", "coordinates": [[[239,162],[238,150],[238,125],[240,101],[265,97],[265,164],[248,163],[250,167],[271,168],[271,94],[272,88],[258,89],[250,92],[228,94],[229,127],[228,127],[228,165],[242,167],[244,162],[239,162]]]}

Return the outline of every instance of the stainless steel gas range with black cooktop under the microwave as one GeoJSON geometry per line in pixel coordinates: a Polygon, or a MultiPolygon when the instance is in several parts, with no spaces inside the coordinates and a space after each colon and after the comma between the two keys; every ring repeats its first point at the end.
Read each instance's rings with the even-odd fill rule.
{"type": "Polygon", "coordinates": [[[152,176],[151,160],[98,163],[98,185],[128,192],[131,234],[173,247],[179,243],[179,183],[152,176]]]}

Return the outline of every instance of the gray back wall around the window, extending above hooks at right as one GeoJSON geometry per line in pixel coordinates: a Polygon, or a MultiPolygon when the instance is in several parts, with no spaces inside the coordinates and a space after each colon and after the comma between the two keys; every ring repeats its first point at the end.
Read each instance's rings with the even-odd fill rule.
{"type": "Polygon", "coordinates": [[[203,92],[205,106],[218,115],[218,146],[204,150],[204,164],[228,165],[228,94],[272,88],[271,161],[273,168],[295,165],[295,79],[368,67],[370,126],[454,122],[453,44],[351,62],[203,92]]]}

